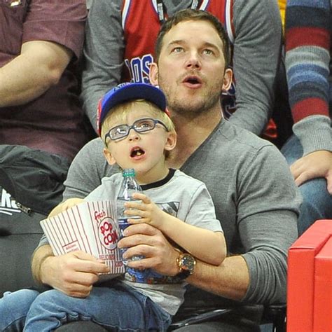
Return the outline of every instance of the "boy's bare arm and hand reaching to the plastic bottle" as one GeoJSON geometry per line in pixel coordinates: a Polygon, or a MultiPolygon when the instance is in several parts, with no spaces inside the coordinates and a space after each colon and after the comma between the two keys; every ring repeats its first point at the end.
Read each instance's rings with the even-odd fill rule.
{"type": "MultiPolygon", "coordinates": [[[[133,197],[141,200],[141,203],[126,202],[125,207],[128,208],[126,214],[128,216],[138,215],[141,219],[130,219],[130,223],[148,223],[158,228],[188,253],[206,263],[219,265],[226,257],[226,243],[223,233],[202,228],[204,227],[204,219],[202,219],[202,223],[199,223],[202,227],[193,226],[162,211],[144,194],[135,193],[133,197]]],[[[213,219],[219,224],[219,221],[215,219],[214,211],[212,212],[212,214],[209,214],[208,209],[201,216],[213,219]]],[[[201,217],[199,213],[193,212],[192,214],[197,219],[201,217]]],[[[221,230],[221,228],[218,230],[221,230]]]]}

